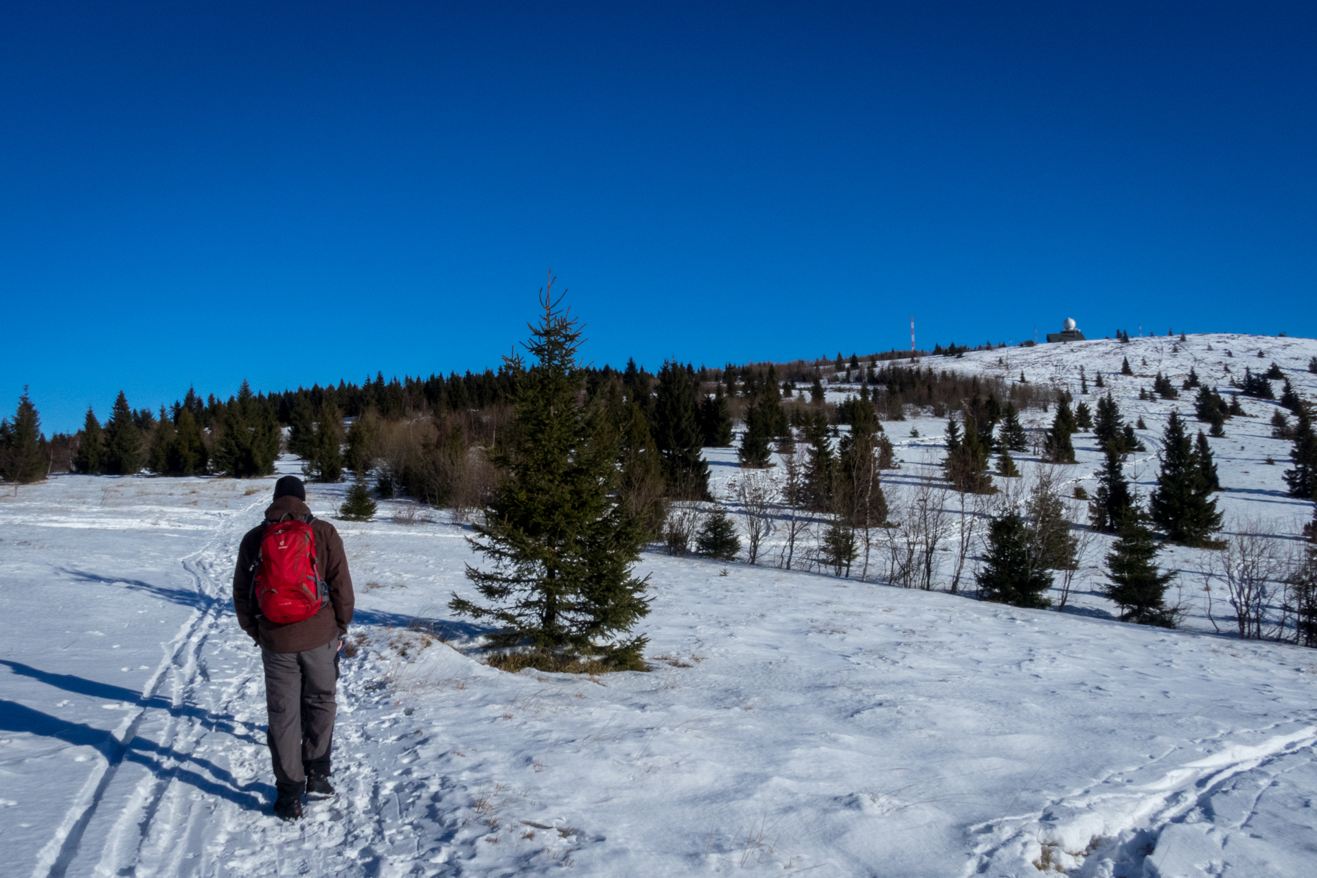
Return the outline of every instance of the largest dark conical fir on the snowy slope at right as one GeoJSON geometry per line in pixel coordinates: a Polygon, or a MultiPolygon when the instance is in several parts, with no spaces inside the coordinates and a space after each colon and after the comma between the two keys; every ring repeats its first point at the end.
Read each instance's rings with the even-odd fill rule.
{"type": "Polygon", "coordinates": [[[1221,529],[1221,512],[1212,499],[1212,486],[1193,441],[1185,433],[1180,412],[1171,412],[1162,433],[1162,470],[1148,499],[1148,513],[1166,537],[1188,546],[1201,546],[1221,529]]]}

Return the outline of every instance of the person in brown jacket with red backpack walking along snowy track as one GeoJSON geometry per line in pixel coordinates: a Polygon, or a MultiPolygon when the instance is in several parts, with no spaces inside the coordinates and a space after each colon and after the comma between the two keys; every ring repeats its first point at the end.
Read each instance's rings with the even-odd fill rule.
{"type": "Polygon", "coordinates": [[[281,820],[302,817],[303,795],[333,795],[338,649],[354,603],[342,540],[306,500],[298,477],[275,482],[265,523],[242,537],[233,570],[233,609],[265,663],[266,740],[281,820]],[[312,542],[313,555],[299,550],[312,542]]]}

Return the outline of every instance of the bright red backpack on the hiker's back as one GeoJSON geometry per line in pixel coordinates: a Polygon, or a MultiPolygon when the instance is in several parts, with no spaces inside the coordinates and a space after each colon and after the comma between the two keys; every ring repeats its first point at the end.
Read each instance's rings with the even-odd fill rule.
{"type": "Polygon", "coordinates": [[[316,537],[306,521],[267,524],[252,567],[252,592],[261,615],[273,623],[311,619],[329,596],[316,565],[316,537]]]}

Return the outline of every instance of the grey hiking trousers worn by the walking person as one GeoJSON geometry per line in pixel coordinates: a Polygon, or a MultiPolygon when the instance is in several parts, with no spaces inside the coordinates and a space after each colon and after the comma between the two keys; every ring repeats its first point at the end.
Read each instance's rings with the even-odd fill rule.
{"type": "Polygon", "coordinates": [[[307,771],[329,774],[338,638],[300,653],[261,649],[265,662],[266,740],[281,790],[302,786],[307,771]]]}

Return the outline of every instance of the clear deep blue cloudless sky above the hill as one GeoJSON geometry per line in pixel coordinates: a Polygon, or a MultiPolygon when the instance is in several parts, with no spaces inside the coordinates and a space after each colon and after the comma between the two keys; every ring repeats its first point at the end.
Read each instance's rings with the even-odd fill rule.
{"type": "Polygon", "coordinates": [[[1317,330],[1309,3],[0,5],[0,408],[1317,330]]]}

